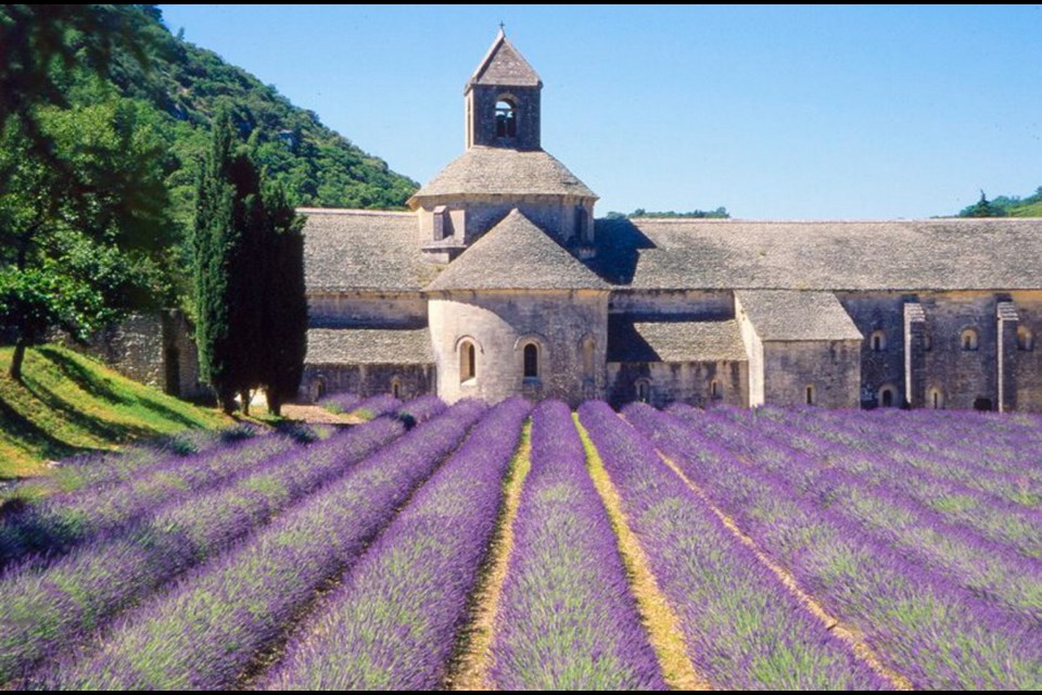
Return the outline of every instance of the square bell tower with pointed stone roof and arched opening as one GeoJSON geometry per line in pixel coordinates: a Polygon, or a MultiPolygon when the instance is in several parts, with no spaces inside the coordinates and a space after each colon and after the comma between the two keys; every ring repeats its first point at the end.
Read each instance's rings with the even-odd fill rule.
{"type": "Polygon", "coordinates": [[[500,26],[463,89],[467,149],[478,146],[539,150],[543,80],[500,26]]]}

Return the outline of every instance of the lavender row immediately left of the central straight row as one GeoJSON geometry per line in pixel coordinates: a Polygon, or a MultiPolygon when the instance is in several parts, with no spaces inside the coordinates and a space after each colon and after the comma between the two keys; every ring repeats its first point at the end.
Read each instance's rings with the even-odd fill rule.
{"type": "Polygon", "coordinates": [[[531,406],[496,406],[344,577],[267,690],[435,690],[487,553],[531,406]]]}

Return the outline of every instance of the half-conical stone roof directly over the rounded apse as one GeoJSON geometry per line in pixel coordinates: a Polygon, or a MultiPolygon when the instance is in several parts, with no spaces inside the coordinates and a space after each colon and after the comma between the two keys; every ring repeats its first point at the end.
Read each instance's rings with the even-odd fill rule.
{"type": "Polygon", "coordinates": [[[427,289],[607,290],[609,286],[513,208],[427,289]]]}

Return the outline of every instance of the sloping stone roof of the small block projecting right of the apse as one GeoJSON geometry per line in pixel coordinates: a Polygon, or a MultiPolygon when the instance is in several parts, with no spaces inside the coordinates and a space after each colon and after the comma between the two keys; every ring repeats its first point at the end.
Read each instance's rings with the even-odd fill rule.
{"type": "Polygon", "coordinates": [[[831,292],[739,290],[735,301],[764,341],[863,338],[831,292]]]}

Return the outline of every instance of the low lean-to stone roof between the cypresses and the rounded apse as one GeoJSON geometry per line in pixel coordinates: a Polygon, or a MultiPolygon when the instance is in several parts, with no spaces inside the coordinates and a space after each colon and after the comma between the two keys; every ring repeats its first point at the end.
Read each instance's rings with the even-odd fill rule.
{"type": "Polygon", "coordinates": [[[431,331],[386,328],[312,328],[308,365],[433,365],[431,331]]]}

